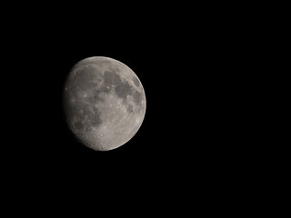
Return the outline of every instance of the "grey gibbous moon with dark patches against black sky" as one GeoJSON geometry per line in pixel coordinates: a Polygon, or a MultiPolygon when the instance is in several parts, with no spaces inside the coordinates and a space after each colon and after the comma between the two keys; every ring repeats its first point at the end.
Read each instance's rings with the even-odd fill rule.
{"type": "Polygon", "coordinates": [[[137,133],[146,114],[146,94],[127,65],[109,57],[88,57],[65,79],[63,108],[66,124],[82,144],[108,151],[137,133]]]}

